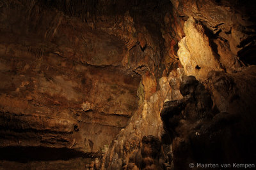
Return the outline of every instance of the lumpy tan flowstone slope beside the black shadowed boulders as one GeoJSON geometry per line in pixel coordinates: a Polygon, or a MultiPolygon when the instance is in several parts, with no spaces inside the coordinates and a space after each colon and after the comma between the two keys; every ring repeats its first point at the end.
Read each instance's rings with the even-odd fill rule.
{"type": "MultiPolygon", "coordinates": [[[[169,81],[179,83],[182,73],[182,69],[172,71],[168,77],[163,77],[159,80],[159,90],[152,93],[148,89],[151,92],[150,97],[145,97],[138,111],[131,117],[127,127],[116,136],[115,141],[111,143],[108,152],[104,155],[104,168],[163,169],[169,166],[167,152],[170,152],[170,146],[163,146],[161,143],[164,132],[160,111],[164,101],[182,98],[179,90],[175,89],[175,87],[172,89],[169,85],[169,81]],[[157,147],[161,148],[161,151],[158,150],[159,153],[157,155],[150,151],[156,150],[154,143],[157,143],[157,147]],[[150,153],[145,153],[146,155],[143,156],[143,147],[146,144],[148,149],[145,152],[150,153]],[[154,156],[150,155],[151,153],[154,156]],[[165,166],[164,163],[166,163],[165,166]]],[[[142,80],[143,87],[148,87],[152,81],[144,81],[144,79],[145,77],[142,80]]],[[[145,94],[148,94],[146,88],[143,90],[145,90],[145,94]]]]}

